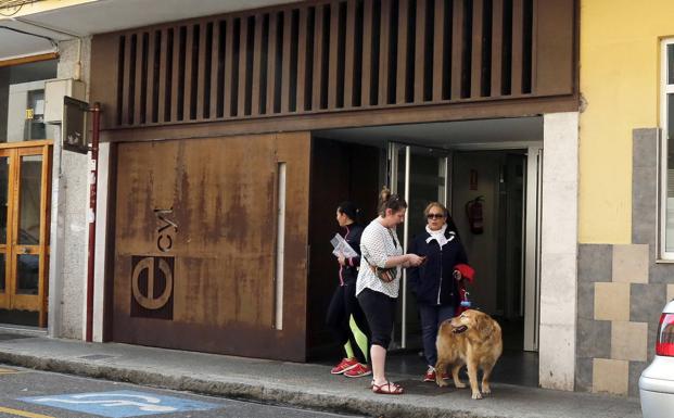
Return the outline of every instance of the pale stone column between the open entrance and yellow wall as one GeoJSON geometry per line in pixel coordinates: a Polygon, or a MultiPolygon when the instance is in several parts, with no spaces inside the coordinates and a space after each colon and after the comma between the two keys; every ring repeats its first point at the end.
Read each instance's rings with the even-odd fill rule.
{"type": "Polygon", "coordinates": [[[573,391],[578,225],[578,113],[543,118],[538,380],[573,391]]]}

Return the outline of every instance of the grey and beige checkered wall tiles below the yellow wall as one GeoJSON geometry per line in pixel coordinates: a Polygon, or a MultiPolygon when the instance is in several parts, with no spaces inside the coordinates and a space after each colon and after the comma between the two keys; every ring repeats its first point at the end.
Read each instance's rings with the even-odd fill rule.
{"type": "Polygon", "coordinates": [[[656,263],[657,129],[633,134],[632,243],[580,244],[575,389],[637,396],[674,264],[656,263]]]}

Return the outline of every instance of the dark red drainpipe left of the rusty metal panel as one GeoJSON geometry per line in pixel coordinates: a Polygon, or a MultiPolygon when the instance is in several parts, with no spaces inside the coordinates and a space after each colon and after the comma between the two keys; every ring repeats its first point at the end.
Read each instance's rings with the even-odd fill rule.
{"type": "Polygon", "coordinates": [[[100,103],[89,109],[93,114],[91,126],[91,175],[89,176],[89,259],[87,262],[87,332],[86,341],[93,340],[93,262],[96,255],[96,201],[97,177],[99,168],[99,130],[101,118],[100,103]]]}

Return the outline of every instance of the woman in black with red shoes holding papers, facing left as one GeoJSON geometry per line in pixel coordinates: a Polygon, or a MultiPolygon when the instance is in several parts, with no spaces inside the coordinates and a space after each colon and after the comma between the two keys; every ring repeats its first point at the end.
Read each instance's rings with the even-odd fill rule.
{"type": "Polygon", "coordinates": [[[367,319],[356,299],[356,279],[360,266],[360,236],[365,229],[358,223],[359,210],[352,202],[340,203],[336,210],[336,221],[342,227],[341,236],[353,250],[356,257],[339,255],[340,282],[334,290],[326,322],[344,346],[346,356],[330,371],[332,375],[344,375],[348,378],[369,376],[372,370],[368,366],[370,331],[367,319]]]}

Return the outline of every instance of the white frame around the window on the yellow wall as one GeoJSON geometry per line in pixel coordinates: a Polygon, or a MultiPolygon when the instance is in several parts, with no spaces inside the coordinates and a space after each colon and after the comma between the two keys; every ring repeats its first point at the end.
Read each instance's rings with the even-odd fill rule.
{"type": "MultiPolygon", "coordinates": [[[[669,156],[669,112],[667,112],[667,94],[674,94],[674,83],[669,84],[669,46],[674,46],[673,38],[661,39],[660,47],[660,138],[659,138],[659,154],[658,161],[660,163],[660,190],[658,192],[658,207],[659,207],[659,221],[658,221],[658,249],[659,259],[674,262],[674,251],[666,251],[666,223],[667,223],[667,156],[669,156]]],[[[672,50],[674,54],[674,50],[672,50]]],[[[674,169],[674,167],[672,167],[674,169]]]]}

